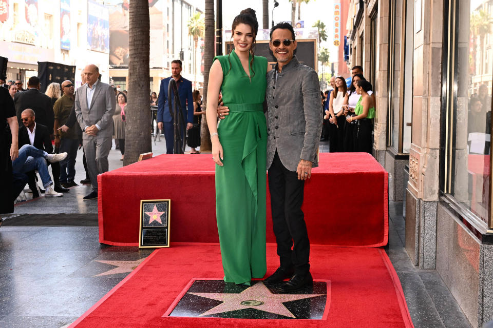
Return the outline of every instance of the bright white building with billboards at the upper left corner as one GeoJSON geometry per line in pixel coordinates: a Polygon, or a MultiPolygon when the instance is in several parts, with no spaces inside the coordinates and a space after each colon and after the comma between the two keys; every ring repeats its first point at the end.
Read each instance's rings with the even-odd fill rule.
{"type": "Polygon", "coordinates": [[[7,78],[21,79],[26,88],[29,77],[37,75],[37,62],[50,61],[76,66],[77,86],[91,63],[108,81],[107,20],[104,7],[92,1],[0,0],[0,55],[9,59],[7,78]]]}

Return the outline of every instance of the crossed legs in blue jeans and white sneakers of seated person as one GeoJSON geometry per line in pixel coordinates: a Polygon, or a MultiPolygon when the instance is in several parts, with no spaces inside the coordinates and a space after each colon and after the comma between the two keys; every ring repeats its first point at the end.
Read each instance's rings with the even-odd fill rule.
{"type": "Polygon", "coordinates": [[[19,156],[12,162],[12,173],[16,175],[37,170],[43,182],[43,187],[46,189],[45,196],[60,197],[63,194],[53,189],[53,181],[48,172],[46,161],[55,163],[64,160],[66,157],[67,153],[48,154],[44,150],[37,149],[34,146],[24,145],[19,149],[19,156]]]}

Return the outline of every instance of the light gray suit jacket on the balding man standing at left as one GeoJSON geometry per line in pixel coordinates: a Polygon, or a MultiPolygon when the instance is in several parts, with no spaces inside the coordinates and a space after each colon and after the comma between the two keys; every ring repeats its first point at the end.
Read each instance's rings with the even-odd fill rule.
{"type": "Polygon", "coordinates": [[[79,87],[75,94],[75,117],[81,129],[97,124],[101,130],[96,137],[82,134],[83,139],[111,138],[113,135],[113,113],[115,113],[116,97],[113,88],[98,81],[92,95],[90,106],[87,106],[87,84],[79,87]]]}

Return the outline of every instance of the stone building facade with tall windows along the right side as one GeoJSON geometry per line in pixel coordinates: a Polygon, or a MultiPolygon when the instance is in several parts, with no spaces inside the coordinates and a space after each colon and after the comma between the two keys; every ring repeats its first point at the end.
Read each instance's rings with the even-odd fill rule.
{"type": "Polygon", "coordinates": [[[493,1],[351,6],[347,64],[375,91],[373,154],[404,203],[406,251],[480,327],[493,319],[493,1]]]}

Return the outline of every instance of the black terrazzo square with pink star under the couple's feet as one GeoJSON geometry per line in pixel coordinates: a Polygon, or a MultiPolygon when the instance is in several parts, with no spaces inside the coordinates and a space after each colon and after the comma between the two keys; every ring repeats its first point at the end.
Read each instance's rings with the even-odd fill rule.
{"type": "Polygon", "coordinates": [[[194,279],[164,316],[323,320],[329,301],[330,281],[314,281],[302,290],[282,293],[278,285],[266,286],[262,281],[244,286],[194,279]]]}

